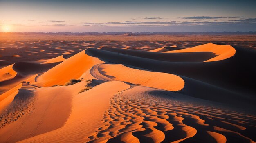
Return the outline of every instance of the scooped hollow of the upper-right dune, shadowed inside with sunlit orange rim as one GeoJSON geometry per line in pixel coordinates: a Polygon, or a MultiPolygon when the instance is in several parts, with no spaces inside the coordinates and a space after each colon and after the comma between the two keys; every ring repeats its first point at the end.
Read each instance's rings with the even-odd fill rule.
{"type": "MultiPolygon", "coordinates": [[[[210,62],[220,61],[234,56],[236,50],[230,45],[217,45],[208,43],[204,45],[195,46],[192,48],[185,48],[180,50],[167,50],[163,53],[151,53],[145,51],[126,50],[120,48],[101,48],[101,50],[107,50],[111,52],[118,52],[122,54],[128,54],[131,56],[139,56],[142,58],[150,58],[161,61],[170,62],[210,62]]],[[[163,50],[161,48],[160,50],[163,50]]],[[[158,50],[157,50],[158,51],[158,50]]]]}

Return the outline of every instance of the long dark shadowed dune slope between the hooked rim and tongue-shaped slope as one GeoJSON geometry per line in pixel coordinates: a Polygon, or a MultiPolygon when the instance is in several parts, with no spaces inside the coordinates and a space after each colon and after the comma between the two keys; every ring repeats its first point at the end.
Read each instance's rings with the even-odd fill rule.
{"type": "Polygon", "coordinates": [[[231,58],[214,62],[190,63],[153,60],[93,48],[89,48],[86,52],[104,61],[193,78],[227,90],[245,93],[246,96],[253,96],[255,99],[254,86],[250,84],[254,82],[255,75],[253,72],[247,72],[256,72],[256,68],[252,66],[253,61],[256,60],[255,51],[236,47],[236,54],[231,58]],[[219,82],[219,79],[222,82],[219,82]]]}

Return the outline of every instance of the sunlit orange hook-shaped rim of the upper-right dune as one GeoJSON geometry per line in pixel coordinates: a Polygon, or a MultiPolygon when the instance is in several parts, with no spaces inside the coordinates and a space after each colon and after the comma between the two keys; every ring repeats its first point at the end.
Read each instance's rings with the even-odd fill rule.
{"type": "Polygon", "coordinates": [[[217,45],[208,43],[204,45],[198,45],[192,48],[186,48],[181,50],[173,50],[164,53],[184,53],[184,52],[213,52],[217,56],[204,62],[220,61],[230,58],[236,54],[235,48],[231,45],[217,45]]]}

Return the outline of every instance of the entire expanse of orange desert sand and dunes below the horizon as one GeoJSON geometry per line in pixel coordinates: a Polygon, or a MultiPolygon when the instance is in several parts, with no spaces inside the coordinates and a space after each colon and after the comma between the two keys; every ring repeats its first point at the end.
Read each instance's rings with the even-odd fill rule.
{"type": "Polygon", "coordinates": [[[255,143],[256,35],[0,34],[1,143],[255,143]]]}

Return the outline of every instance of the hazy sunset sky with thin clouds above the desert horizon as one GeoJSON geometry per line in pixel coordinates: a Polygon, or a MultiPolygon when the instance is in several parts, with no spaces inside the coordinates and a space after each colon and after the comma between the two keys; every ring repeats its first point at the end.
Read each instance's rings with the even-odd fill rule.
{"type": "Polygon", "coordinates": [[[256,0],[0,0],[0,32],[256,31],[256,0]]]}

